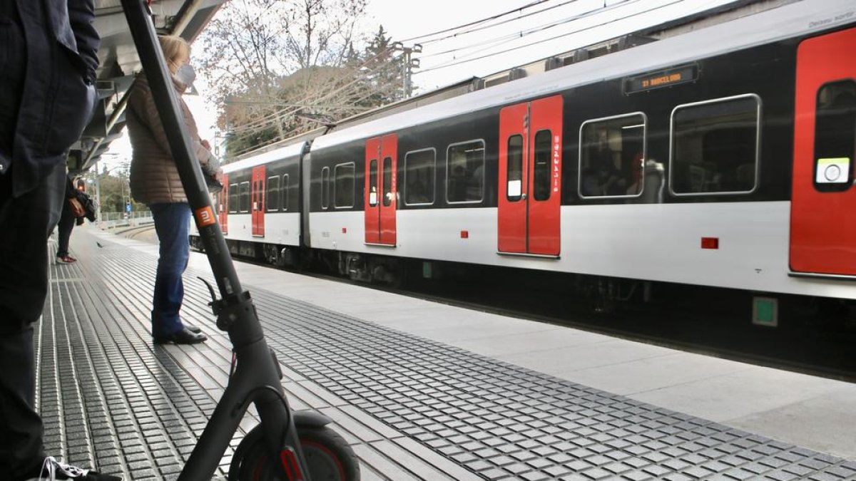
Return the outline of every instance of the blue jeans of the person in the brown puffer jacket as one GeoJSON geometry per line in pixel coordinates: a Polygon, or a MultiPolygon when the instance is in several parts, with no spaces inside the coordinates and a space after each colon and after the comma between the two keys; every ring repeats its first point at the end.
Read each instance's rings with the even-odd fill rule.
{"type": "Polygon", "coordinates": [[[184,300],[181,274],[190,258],[190,244],[187,241],[190,235],[190,205],[151,204],[149,209],[160,241],[158,273],[152,300],[152,336],[169,336],[182,328],[178,312],[184,300]]]}

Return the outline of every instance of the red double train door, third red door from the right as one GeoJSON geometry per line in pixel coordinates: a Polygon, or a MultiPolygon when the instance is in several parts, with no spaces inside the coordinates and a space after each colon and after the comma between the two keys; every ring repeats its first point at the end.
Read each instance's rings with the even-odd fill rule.
{"type": "Polygon", "coordinates": [[[366,244],[395,246],[395,209],[398,137],[366,140],[366,244]]]}

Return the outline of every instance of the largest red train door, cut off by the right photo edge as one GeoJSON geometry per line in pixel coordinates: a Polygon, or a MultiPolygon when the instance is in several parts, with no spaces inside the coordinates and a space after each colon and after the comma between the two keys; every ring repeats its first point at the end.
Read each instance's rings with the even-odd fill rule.
{"type": "Polygon", "coordinates": [[[797,50],[790,268],[856,276],[856,29],[797,50]]]}

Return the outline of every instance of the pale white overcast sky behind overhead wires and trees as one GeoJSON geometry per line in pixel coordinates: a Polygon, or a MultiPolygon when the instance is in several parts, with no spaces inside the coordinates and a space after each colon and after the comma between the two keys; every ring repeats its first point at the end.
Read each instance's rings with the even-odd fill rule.
{"type": "MultiPolygon", "coordinates": [[[[429,92],[473,76],[485,76],[529,62],[613,39],[665,21],[714,8],[733,0],[429,0],[418,9],[401,0],[368,0],[363,29],[370,37],[377,26],[405,47],[422,45],[419,68],[413,70],[416,92],[429,92]],[[528,8],[526,5],[531,5],[528,8]],[[481,21],[492,21],[450,33],[425,36],[481,21]],[[456,33],[453,35],[453,33],[456,33]],[[442,39],[443,37],[449,37],[442,39]],[[502,52],[498,55],[490,55],[502,52]],[[489,56],[490,55],[490,56],[489,56]],[[477,57],[479,60],[473,60],[477,57]],[[466,62],[465,62],[466,61],[466,62]]],[[[193,62],[193,58],[191,58],[193,62]]],[[[196,83],[199,96],[185,96],[203,139],[217,135],[215,106],[205,102],[205,79],[196,83]]],[[[128,134],[110,145],[104,163],[128,163],[128,134]]]]}

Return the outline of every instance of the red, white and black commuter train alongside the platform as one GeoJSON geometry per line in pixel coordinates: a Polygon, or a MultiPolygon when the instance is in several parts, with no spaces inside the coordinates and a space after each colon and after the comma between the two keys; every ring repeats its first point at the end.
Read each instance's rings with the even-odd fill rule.
{"type": "MultiPolygon", "coordinates": [[[[224,166],[235,254],[856,299],[856,4],[804,0],[224,166]]],[[[192,238],[195,246],[199,240],[192,238]]]]}

